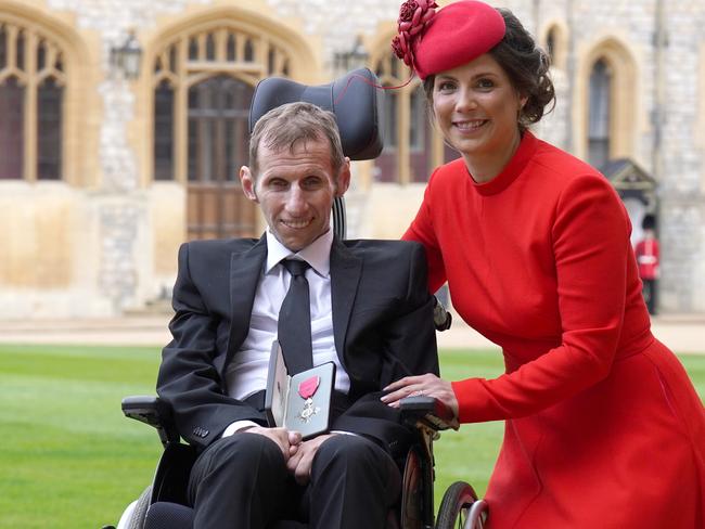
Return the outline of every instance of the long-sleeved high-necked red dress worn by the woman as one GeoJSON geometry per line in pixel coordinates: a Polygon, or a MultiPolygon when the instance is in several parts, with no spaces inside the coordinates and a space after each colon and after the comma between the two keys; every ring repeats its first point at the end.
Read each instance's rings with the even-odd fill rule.
{"type": "Polygon", "coordinates": [[[705,527],[705,412],[651,334],[630,229],[603,176],[529,132],[490,182],[462,159],[428,182],[405,238],[507,365],[453,383],[462,423],[507,420],[492,529],[705,527]]]}

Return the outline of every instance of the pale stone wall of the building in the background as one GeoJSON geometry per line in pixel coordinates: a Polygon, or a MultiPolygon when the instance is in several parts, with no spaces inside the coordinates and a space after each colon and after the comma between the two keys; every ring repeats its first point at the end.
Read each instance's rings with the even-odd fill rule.
{"type": "MultiPolygon", "coordinates": [[[[572,128],[572,119],[579,111],[574,107],[573,99],[576,65],[607,37],[618,39],[633,57],[638,89],[633,158],[655,176],[659,185],[662,309],[705,312],[705,133],[698,132],[698,127],[705,124],[702,34],[705,4],[694,0],[663,0],[667,47],[664,69],[658,76],[653,46],[658,1],[507,0],[502,3],[536,35],[541,34],[548,22],[556,20],[563,21],[571,33],[573,54],[567,67],[554,72],[555,111],[536,127],[541,138],[559,146],[569,150],[576,141],[572,128]],[[659,81],[664,89],[663,107],[656,112],[659,81]],[[661,119],[659,138],[656,138],[656,119],[661,119]],[[661,147],[661,162],[654,156],[656,145],[661,147]]],[[[176,183],[152,185],[149,176],[140,172],[139,145],[130,133],[134,122],[144,119],[137,93],[145,88],[114,75],[108,68],[108,50],[120,43],[129,29],[136,29],[138,35],[140,30],[155,35],[164,28],[165,20],[176,15],[211,7],[265,5],[268,15],[299,21],[303,38],[323,50],[324,72],[310,77],[328,79],[335,75],[332,68],[335,52],[349,50],[358,36],[371,42],[381,28],[393,27],[399,0],[30,0],[29,4],[62,21],[73,20],[79,33],[100,35],[101,49],[93,52],[102,69],[101,81],[86,87],[88,92],[99,94],[103,106],[102,116],[94,117],[100,120],[95,142],[99,152],[86,154],[95,154],[99,170],[90,178],[77,180],[93,182],[87,189],[67,189],[61,184],[33,188],[24,183],[3,189],[5,203],[18,198],[30,203],[21,212],[10,206],[0,210],[0,218],[9,222],[4,225],[16,227],[25,219],[31,227],[27,233],[39,230],[37,236],[49,240],[49,247],[62,242],[65,249],[44,253],[31,275],[15,267],[27,245],[35,244],[17,235],[26,229],[12,228],[13,234],[4,235],[1,241],[7,243],[5,248],[16,253],[0,263],[0,301],[13,301],[11,308],[3,309],[0,305],[0,318],[119,313],[143,306],[172,281],[176,247],[185,225],[185,192],[183,185],[176,183]],[[8,211],[16,215],[8,219],[8,215],[3,216],[8,211]],[[35,217],[29,219],[28,211],[34,211],[35,217]],[[66,222],[72,224],[70,230],[78,232],[68,234],[66,222]],[[14,271],[10,272],[12,267],[14,271]],[[55,273],[44,273],[47,267],[53,267],[55,273]],[[28,274],[34,278],[31,281],[27,280],[28,274]],[[14,280],[3,283],[2,279],[10,276],[14,280]]],[[[354,192],[349,201],[351,236],[396,236],[402,231],[406,217],[415,211],[421,196],[421,191],[412,186],[397,193],[374,185],[371,191],[355,189],[354,192]],[[395,199],[400,203],[393,204],[395,199]],[[389,215],[394,208],[403,214],[389,215]]]]}

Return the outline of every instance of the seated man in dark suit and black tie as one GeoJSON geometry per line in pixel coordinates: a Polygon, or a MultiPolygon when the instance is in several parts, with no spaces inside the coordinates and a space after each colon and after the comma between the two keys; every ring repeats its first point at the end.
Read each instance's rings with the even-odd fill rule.
{"type": "Polygon", "coordinates": [[[268,230],[259,240],[180,248],[174,339],[157,382],[179,435],[198,452],[188,491],[194,527],[295,519],[383,529],[401,490],[398,460],[412,439],[399,412],[380,401],[382,388],[438,372],[423,249],[333,235],[330,212],[348,189],[349,159],[335,118],[316,105],[290,103],[261,117],[240,179],[268,230]],[[304,261],[304,271],[290,260],[304,261]],[[290,284],[293,292],[302,282],[306,309],[292,309],[290,284]],[[302,440],[268,425],[264,389],[274,339],[292,374],[335,363],[328,433],[302,440]]]}

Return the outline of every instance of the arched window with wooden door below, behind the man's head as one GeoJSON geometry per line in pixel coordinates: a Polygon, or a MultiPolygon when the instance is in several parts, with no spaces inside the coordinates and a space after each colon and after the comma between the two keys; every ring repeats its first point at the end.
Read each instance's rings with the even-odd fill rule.
{"type": "Polygon", "coordinates": [[[222,21],[190,28],[154,55],[153,178],[188,188],[188,237],[254,235],[256,208],[240,190],[253,87],[289,76],[291,57],[261,33],[222,21]]]}

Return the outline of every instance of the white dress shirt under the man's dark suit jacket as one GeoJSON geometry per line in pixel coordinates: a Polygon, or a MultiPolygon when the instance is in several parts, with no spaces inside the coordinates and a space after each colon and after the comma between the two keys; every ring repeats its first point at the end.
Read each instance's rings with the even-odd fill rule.
{"type": "MultiPolygon", "coordinates": [[[[306,271],[306,280],[310,293],[313,365],[335,362],[335,389],[344,393],[349,391],[350,378],[341,365],[333,335],[330,274],[332,243],[333,232],[329,230],[306,248],[294,254],[267,230],[267,261],[255,293],[249,332],[226,370],[230,397],[243,400],[267,386],[269,354],[272,341],[277,338],[279,310],[291,282],[291,274],[280,262],[291,257],[303,259],[311,266],[306,271]]],[[[226,429],[223,437],[246,425],[254,423],[233,423],[226,429]]]]}

